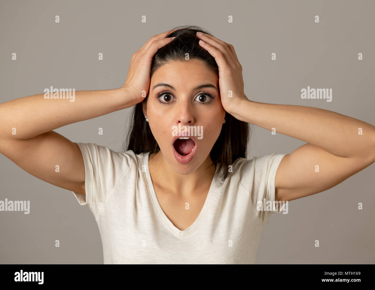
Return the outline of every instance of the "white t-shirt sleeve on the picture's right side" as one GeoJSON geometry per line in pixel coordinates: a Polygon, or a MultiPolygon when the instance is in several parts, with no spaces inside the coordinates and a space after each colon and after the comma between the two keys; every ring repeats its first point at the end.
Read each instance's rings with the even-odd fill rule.
{"type": "Polygon", "coordinates": [[[287,154],[264,155],[244,162],[240,183],[251,194],[257,216],[267,222],[272,213],[282,211],[282,201],[275,201],[275,177],[282,158],[287,154]]]}

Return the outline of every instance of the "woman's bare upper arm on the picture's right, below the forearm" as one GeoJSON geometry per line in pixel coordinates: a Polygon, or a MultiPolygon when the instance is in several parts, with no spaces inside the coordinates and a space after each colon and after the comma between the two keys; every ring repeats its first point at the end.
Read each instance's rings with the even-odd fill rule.
{"type": "Polygon", "coordinates": [[[338,157],[306,143],[280,162],[275,176],[275,199],[291,201],[330,189],[373,162],[371,158],[338,157]]]}

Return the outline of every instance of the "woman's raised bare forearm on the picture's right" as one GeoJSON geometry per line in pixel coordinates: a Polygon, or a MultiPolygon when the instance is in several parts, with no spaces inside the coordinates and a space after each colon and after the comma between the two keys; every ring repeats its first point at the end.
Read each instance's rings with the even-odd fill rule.
{"type": "Polygon", "coordinates": [[[239,120],[318,146],[340,157],[375,155],[375,126],[329,110],[245,100],[231,113],[239,120]],[[362,128],[362,135],[358,134],[362,128]]]}

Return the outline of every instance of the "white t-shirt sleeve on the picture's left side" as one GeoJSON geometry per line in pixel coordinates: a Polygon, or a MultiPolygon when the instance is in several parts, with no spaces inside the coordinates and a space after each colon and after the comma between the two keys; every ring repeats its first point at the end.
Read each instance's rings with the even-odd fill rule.
{"type": "Polygon", "coordinates": [[[115,152],[94,143],[77,143],[85,165],[85,195],[73,192],[80,205],[87,205],[96,220],[116,184],[133,166],[133,158],[126,152],[115,152]]]}

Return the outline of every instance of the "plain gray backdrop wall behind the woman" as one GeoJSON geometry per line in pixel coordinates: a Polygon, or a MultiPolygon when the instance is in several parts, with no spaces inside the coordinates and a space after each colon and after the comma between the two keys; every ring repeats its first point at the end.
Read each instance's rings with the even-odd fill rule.
{"type": "MultiPolygon", "coordinates": [[[[49,86],[118,88],[130,57],[151,36],[198,25],[234,45],[250,100],[319,107],[374,125],[374,8],[374,1],[2,0],[0,103],[49,86]],[[11,60],[13,52],[17,61],[11,60]],[[302,100],[300,90],[307,86],[332,88],[332,102],[302,100]]],[[[119,151],[130,111],[55,131],[119,151]],[[98,135],[99,127],[104,135],[98,135]]],[[[305,144],[253,128],[248,159],[291,153],[305,144]]],[[[374,263],[374,169],[372,164],[332,189],[291,201],[288,214],[273,214],[256,262],[374,263]]],[[[1,154],[0,182],[0,200],[30,200],[30,214],[0,212],[0,263],[103,263],[96,221],[72,192],[33,177],[1,154]]]]}

